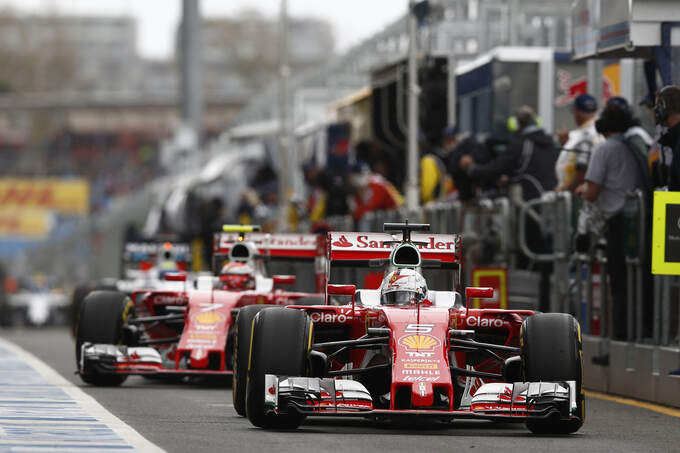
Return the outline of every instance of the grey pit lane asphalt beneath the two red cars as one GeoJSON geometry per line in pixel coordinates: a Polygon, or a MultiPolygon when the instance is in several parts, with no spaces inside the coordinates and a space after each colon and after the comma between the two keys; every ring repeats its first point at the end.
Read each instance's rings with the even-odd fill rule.
{"type": "Polygon", "coordinates": [[[236,415],[231,389],[215,384],[161,383],[129,378],[120,388],[83,384],[66,329],[0,330],[168,452],[673,452],[680,419],[589,398],[587,420],[571,436],[534,436],[522,425],[458,421],[447,428],[382,427],[358,419],[308,420],[297,431],[267,432],[236,415]]]}

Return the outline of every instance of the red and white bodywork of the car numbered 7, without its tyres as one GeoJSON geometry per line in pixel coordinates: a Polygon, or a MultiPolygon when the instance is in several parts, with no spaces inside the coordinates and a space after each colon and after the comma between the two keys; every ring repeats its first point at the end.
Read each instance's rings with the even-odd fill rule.
{"type": "MultiPolygon", "coordinates": [[[[79,371],[90,368],[98,374],[231,375],[234,315],[241,307],[289,305],[301,298],[323,300],[322,292],[279,288],[294,283],[295,277],[268,278],[264,262],[306,260],[318,269],[317,261],[324,258],[324,239],[310,234],[216,234],[216,254],[231,258],[230,252],[237,244],[251,254],[238,259],[251,262],[256,269],[255,289],[226,291],[220,289],[218,277],[199,277],[198,289],[185,281],[184,291],[135,291],[134,315],[128,316],[123,326],[124,346],[84,343],[79,371]]],[[[169,279],[183,278],[169,275],[169,279]]],[[[322,284],[323,278],[317,278],[317,288],[322,284]]]]}

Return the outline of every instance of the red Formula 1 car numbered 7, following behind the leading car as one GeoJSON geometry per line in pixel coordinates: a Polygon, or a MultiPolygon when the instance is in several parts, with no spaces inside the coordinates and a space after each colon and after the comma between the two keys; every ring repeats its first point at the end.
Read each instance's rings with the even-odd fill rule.
{"type": "MultiPolygon", "coordinates": [[[[317,261],[324,259],[320,239],[324,238],[223,232],[216,237],[215,251],[228,263],[220,263],[219,276],[200,277],[196,288],[136,291],[132,297],[114,291],[89,294],[76,336],[78,373],[94,385],[118,385],[133,374],[231,376],[237,347],[235,314],[245,311],[242,318],[252,319],[268,306],[322,303],[321,288],[312,292],[321,283],[314,271],[320,269],[317,261]],[[296,284],[295,276],[268,278],[265,267],[304,274],[311,291],[280,289],[296,284]]],[[[166,278],[188,285],[184,274],[166,278]]],[[[244,395],[245,381],[239,385],[243,387],[239,395],[244,395]]]]}

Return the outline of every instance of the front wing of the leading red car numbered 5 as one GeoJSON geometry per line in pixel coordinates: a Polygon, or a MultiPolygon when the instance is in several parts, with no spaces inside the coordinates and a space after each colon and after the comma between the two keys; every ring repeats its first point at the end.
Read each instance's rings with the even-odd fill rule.
{"type": "Polygon", "coordinates": [[[559,417],[578,418],[576,383],[515,382],[482,385],[465,410],[375,409],[368,390],[352,380],[265,376],[265,412],[289,411],[309,416],[438,416],[510,422],[559,417]]]}

